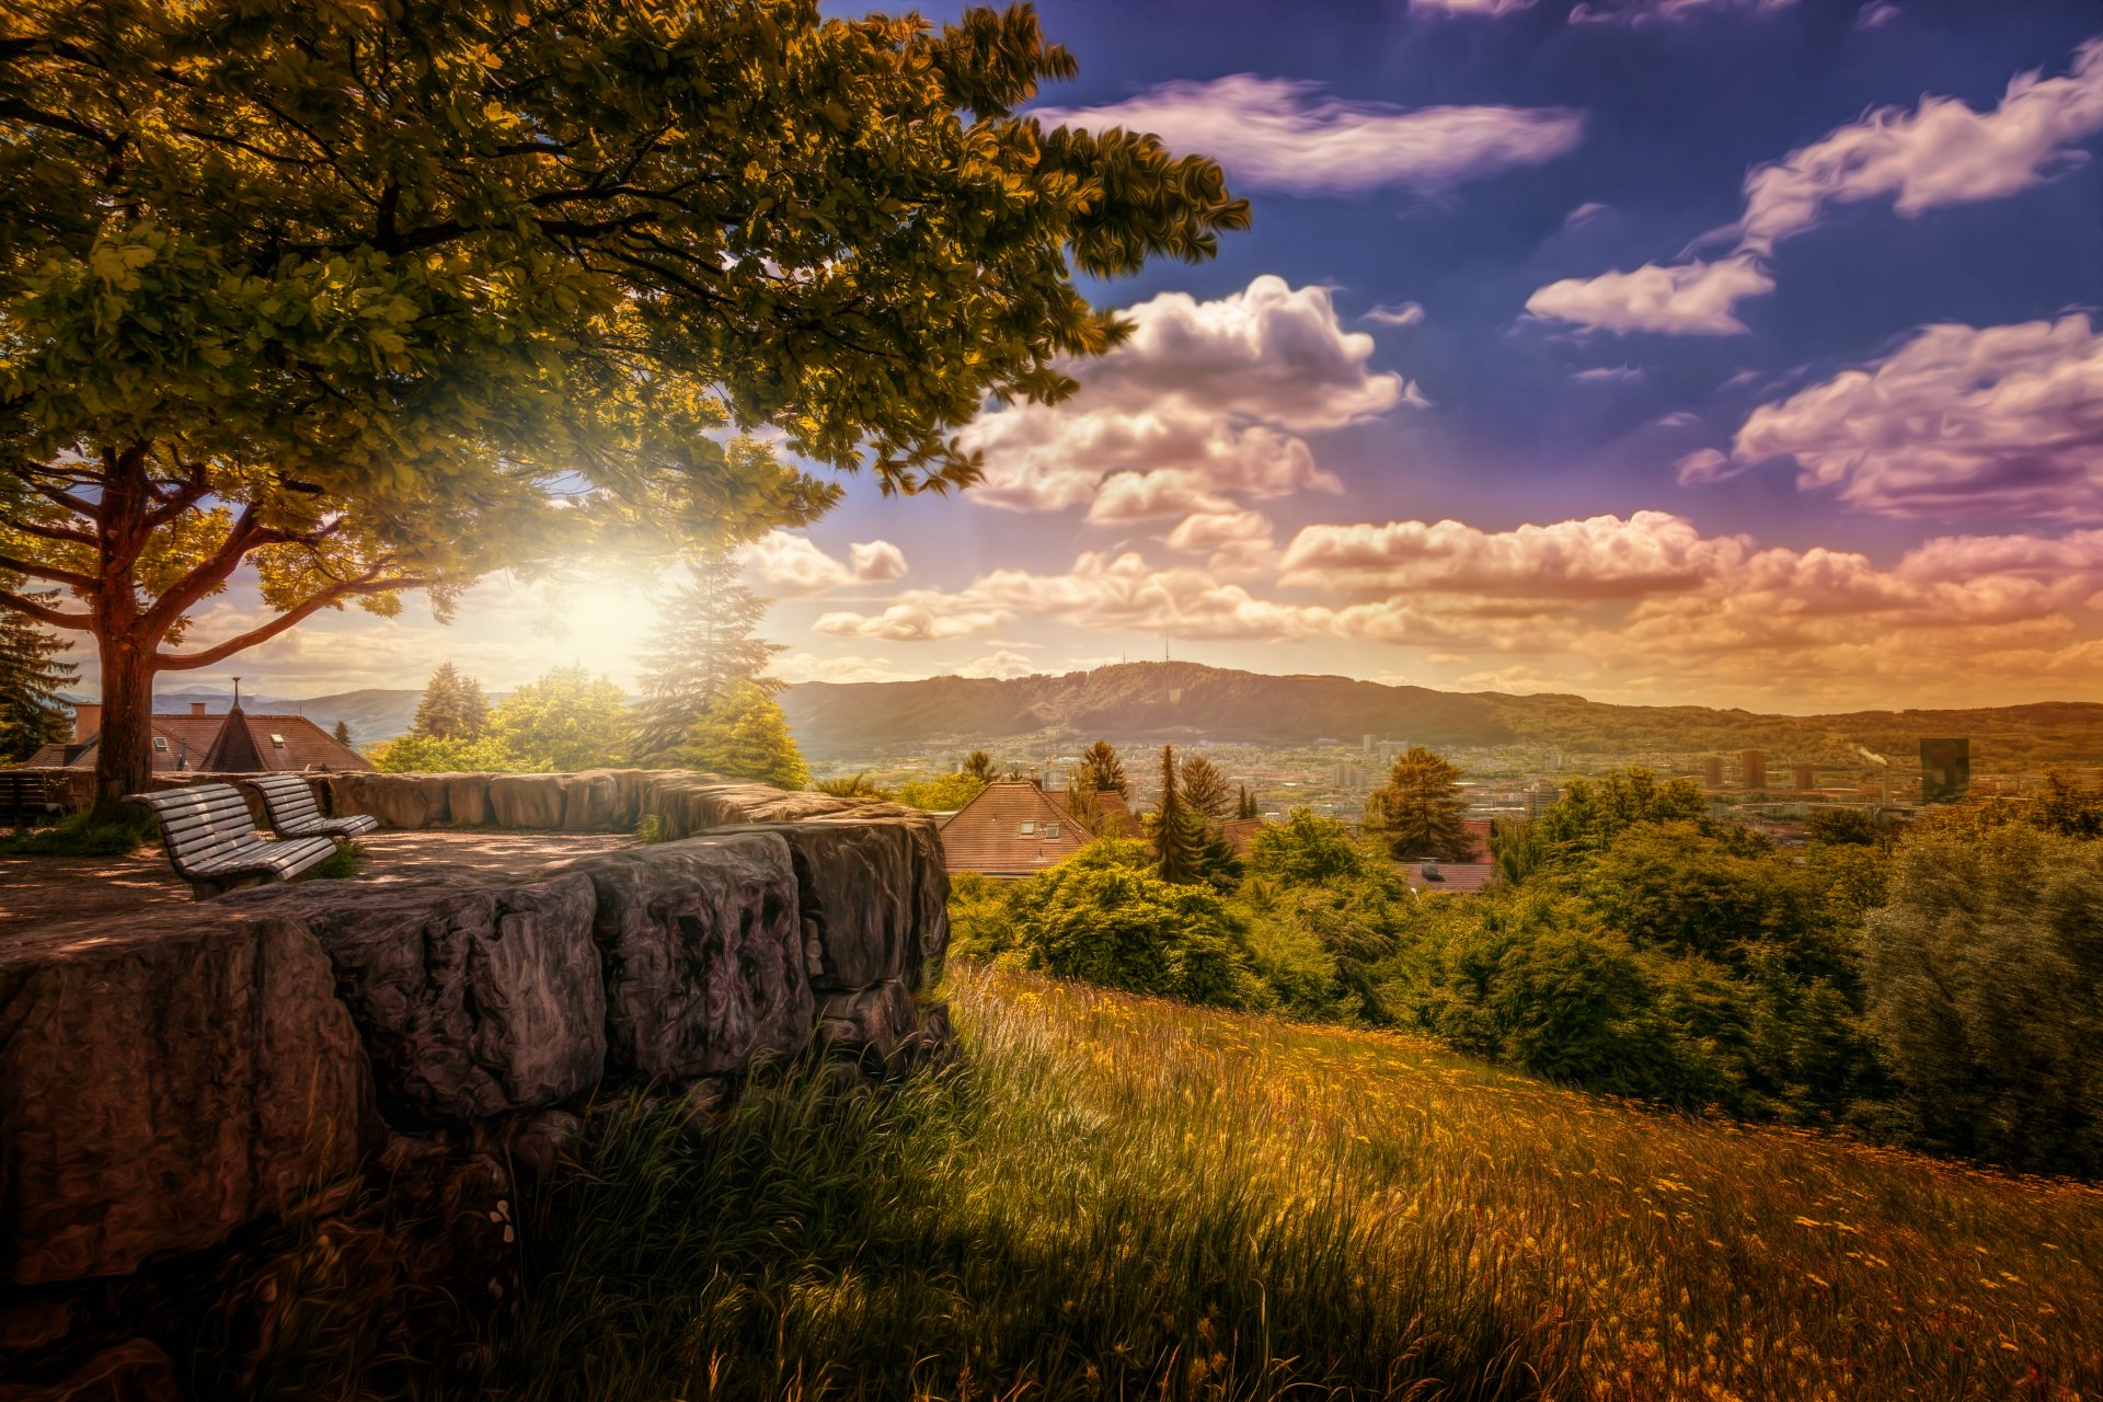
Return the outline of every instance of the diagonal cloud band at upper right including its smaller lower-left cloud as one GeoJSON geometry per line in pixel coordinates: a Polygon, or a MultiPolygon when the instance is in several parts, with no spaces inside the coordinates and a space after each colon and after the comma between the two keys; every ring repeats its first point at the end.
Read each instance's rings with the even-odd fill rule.
{"type": "MultiPolygon", "coordinates": [[[[1697,2],[1663,0],[1657,13],[1697,2]]],[[[1527,311],[1613,332],[1733,336],[1745,330],[1737,305],[1775,290],[1758,259],[1817,227],[1830,206],[1891,200],[1912,219],[1945,204],[2000,200],[2086,162],[2080,143],[2097,132],[2103,132],[2103,38],[2082,44],[2061,78],[2017,74],[1992,111],[1922,97],[1912,111],[1878,107],[1756,166],[1745,177],[1743,214],[1718,231],[1735,240],[1727,259],[1565,277],[1527,298],[1527,311]]]]}

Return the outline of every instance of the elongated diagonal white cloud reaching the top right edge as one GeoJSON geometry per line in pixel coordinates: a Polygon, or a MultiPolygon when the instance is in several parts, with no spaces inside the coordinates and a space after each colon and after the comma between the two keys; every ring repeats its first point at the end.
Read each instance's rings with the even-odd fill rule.
{"type": "Polygon", "coordinates": [[[2103,130],[2103,40],[2088,40],[2063,78],[2019,74],[2000,105],[1973,111],[1924,97],[1914,111],[1880,107],[1745,177],[1741,248],[1769,250],[1817,225],[1830,204],[1888,198],[1914,217],[1945,204],[2000,200],[2088,160],[2076,143],[2103,130]]]}

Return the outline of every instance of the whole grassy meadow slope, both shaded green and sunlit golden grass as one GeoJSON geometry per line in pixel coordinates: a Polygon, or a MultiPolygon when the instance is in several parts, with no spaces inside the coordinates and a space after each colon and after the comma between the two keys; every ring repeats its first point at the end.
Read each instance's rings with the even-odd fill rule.
{"type": "Polygon", "coordinates": [[[959,1070],[635,1118],[528,1204],[498,1398],[2055,1398],[2103,1194],[1430,1045],[953,973],[959,1070]]]}

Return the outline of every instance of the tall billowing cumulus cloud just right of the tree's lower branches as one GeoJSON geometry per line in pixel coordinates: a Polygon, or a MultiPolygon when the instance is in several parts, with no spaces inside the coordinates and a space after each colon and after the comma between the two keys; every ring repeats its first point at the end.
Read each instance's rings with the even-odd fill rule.
{"type": "Polygon", "coordinates": [[[1094,521],[1220,511],[1226,498],[1335,492],[1298,433],[1405,404],[1398,374],[1369,368],[1373,338],[1346,332],[1321,288],[1255,277],[1216,301],[1163,292],[1125,311],[1131,336],[1062,366],[1070,399],[980,414],[972,500],[1012,511],[1087,507],[1094,521]]]}

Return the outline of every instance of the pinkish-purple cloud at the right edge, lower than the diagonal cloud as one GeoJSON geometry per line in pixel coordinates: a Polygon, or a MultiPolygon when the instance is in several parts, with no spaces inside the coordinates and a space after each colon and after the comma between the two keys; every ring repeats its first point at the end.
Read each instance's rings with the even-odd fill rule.
{"type": "Polygon", "coordinates": [[[1733,462],[1783,456],[1798,486],[1867,511],[2103,519],[2103,334],[2086,315],[1922,328],[1867,368],[1756,408],[1733,462]]]}

